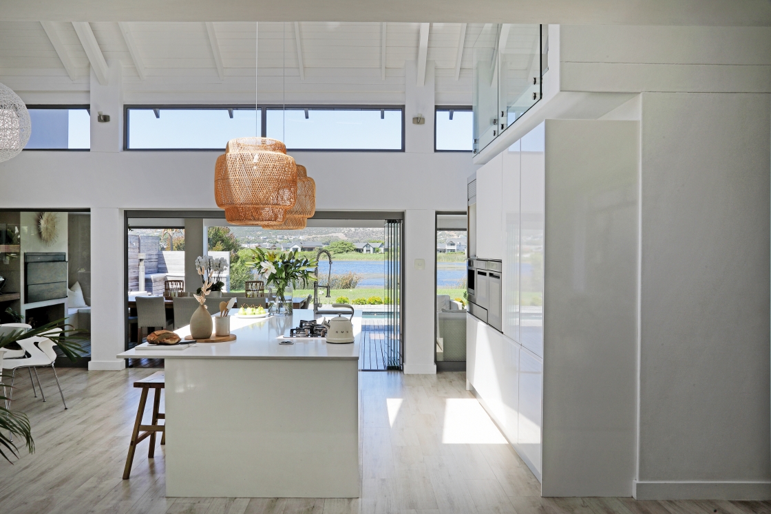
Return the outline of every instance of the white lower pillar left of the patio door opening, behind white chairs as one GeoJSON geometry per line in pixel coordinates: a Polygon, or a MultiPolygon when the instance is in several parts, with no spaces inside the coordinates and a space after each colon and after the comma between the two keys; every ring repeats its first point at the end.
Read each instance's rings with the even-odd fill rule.
{"type": "Polygon", "coordinates": [[[126,341],[123,312],[123,210],[91,209],[91,361],[89,371],[121,370],[126,341]]]}

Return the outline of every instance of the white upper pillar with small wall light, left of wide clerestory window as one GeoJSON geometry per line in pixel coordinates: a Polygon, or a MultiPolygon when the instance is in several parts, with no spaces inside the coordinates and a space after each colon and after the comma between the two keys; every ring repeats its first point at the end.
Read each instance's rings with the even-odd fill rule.
{"type": "Polygon", "coordinates": [[[123,67],[118,59],[107,61],[108,82],[99,84],[91,70],[91,151],[120,152],[123,149],[123,67]],[[99,122],[101,111],[109,122],[99,122]]]}

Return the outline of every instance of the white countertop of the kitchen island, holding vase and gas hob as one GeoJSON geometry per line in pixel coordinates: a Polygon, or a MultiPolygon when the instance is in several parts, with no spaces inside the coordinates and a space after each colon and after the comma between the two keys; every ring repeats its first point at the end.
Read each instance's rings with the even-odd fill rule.
{"type": "MultiPolygon", "coordinates": [[[[322,319],[329,315],[317,315],[322,319]]],[[[359,344],[362,338],[362,317],[353,317],[356,341],[349,344],[329,344],[326,341],[293,339],[295,344],[278,344],[290,328],[298,327],[300,320],[314,319],[311,309],[295,309],[291,317],[271,316],[264,319],[241,319],[231,316],[231,334],[235,341],[224,343],[196,343],[185,350],[138,350],[132,348],[118,354],[118,358],[224,358],[224,359],[300,359],[300,360],[359,360],[359,344]]],[[[175,331],[184,338],[190,334],[185,326],[175,331]]]]}

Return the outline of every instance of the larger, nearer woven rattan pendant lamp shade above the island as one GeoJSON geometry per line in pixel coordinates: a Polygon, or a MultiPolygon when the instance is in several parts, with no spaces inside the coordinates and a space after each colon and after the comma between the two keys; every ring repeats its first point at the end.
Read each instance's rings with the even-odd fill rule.
{"type": "Polygon", "coordinates": [[[297,202],[297,166],[286,146],[267,137],[227,142],[214,166],[214,199],[228,223],[282,223],[297,202]]]}

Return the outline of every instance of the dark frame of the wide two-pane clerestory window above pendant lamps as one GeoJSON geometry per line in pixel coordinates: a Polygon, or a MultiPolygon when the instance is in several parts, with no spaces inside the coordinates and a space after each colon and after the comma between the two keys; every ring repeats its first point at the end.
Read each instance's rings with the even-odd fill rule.
{"type": "MultiPolygon", "coordinates": [[[[222,152],[223,148],[130,148],[129,147],[129,109],[178,109],[178,110],[261,110],[261,137],[267,137],[268,110],[399,110],[402,113],[402,146],[399,149],[328,149],[328,148],[287,148],[288,152],[404,152],[405,151],[405,106],[403,105],[340,105],[340,104],[281,104],[281,103],[238,103],[238,104],[124,104],[123,105],[123,150],[127,152],[222,152]]],[[[452,150],[455,151],[455,150],[452,150]]]]}

